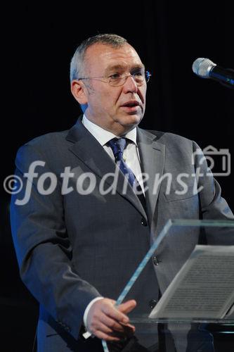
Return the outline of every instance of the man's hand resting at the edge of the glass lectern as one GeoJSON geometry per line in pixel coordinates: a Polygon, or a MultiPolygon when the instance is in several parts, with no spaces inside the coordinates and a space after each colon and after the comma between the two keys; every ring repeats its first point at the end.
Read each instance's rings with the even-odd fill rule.
{"type": "Polygon", "coordinates": [[[134,334],[127,313],[136,307],[136,301],[126,301],[115,307],[115,301],[103,298],[91,306],[87,316],[89,332],[106,341],[119,341],[134,334]]]}

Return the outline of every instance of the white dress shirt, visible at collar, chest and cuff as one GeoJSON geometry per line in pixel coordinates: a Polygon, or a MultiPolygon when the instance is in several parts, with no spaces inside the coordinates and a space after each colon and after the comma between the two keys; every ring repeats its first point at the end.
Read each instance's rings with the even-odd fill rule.
{"type": "MultiPolygon", "coordinates": [[[[109,132],[107,130],[104,130],[102,127],[96,125],[95,123],[91,122],[86,118],[85,115],[83,115],[82,123],[84,127],[93,135],[94,138],[100,143],[101,146],[105,149],[105,151],[109,154],[109,156],[115,160],[115,156],[112,152],[112,149],[110,146],[107,146],[106,144],[110,141],[112,138],[116,138],[115,134],[112,132],[109,132]]],[[[136,180],[138,180],[139,184],[141,185],[141,189],[143,189],[144,192],[144,187],[143,187],[143,180],[141,177],[141,161],[140,161],[140,156],[139,156],[139,151],[138,151],[138,146],[136,144],[136,127],[124,134],[126,139],[129,139],[131,142],[126,144],[126,148],[124,149],[123,153],[123,159],[125,163],[131,168],[132,172],[134,172],[134,175],[136,177],[136,180]]],[[[118,138],[118,137],[117,137],[118,138]]],[[[86,307],[86,310],[84,311],[84,326],[87,328],[87,316],[89,313],[89,310],[91,306],[93,305],[94,302],[98,301],[99,299],[102,299],[103,297],[97,297],[94,298],[86,307]]],[[[89,333],[85,333],[84,337],[89,337],[89,333]]]]}

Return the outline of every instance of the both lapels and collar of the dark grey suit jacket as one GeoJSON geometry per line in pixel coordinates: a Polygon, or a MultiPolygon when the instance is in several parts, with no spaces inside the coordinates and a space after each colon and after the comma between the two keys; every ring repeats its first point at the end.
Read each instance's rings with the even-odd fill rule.
{"type": "MultiPolygon", "coordinates": [[[[81,118],[77,120],[76,125],[74,125],[68,132],[66,139],[73,142],[70,146],[70,151],[74,153],[83,163],[88,166],[88,168],[95,173],[98,177],[105,177],[106,174],[113,174],[116,171],[117,166],[112,158],[108,156],[105,152],[103,146],[97,142],[93,135],[84,127],[81,118]]],[[[145,130],[141,130],[137,127],[137,142],[138,149],[141,158],[141,168],[142,172],[149,175],[149,180],[146,182],[148,190],[145,192],[145,199],[148,209],[148,217],[145,210],[139,201],[138,197],[134,193],[130,184],[126,184],[126,192],[123,194],[125,177],[122,172],[118,174],[116,191],[118,194],[128,199],[137,210],[143,215],[145,220],[152,221],[152,215],[155,211],[155,206],[157,202],[157,196],[159,188],[153,194],[155,173],[160,175],[164,169],[164,145],[157,142],[157,136],[145,130]]],[[[110,179],[106,180],[108,184],[112,184],[110,179]]]]}

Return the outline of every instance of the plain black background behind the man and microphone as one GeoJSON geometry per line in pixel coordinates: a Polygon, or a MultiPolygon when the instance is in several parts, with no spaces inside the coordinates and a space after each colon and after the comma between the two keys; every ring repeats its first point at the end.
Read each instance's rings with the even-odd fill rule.
{"type": "MultiPolygon", "coordinates": [[[[51,131],[67,130],[80,113],[70,93],[69,66],[86,37],[125,37],[152,73],[141,127],[174,132],[202,149],[233,151],[234,91],[195,76],[197,57],[234,68],[231,1],[67,1],[4,8],[1,43],[1,177],[14,172],[18,147],[51,131]]],[[[216,177],[234,209],[233,184],[216,177]]],[[[8,220],[10,196],[1,188],[1,316],[5,351],[31,351],[37,303],[20,282],[8,220]]]]}

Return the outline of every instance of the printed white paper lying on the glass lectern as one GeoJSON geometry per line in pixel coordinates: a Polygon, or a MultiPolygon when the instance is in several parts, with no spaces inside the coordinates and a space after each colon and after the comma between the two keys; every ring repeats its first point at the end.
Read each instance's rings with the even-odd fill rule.
{"type": "Polygon", "coordinates": [[[149,318],[234,318],[234,246],[195,246],[149,318]]]}

